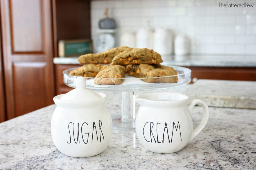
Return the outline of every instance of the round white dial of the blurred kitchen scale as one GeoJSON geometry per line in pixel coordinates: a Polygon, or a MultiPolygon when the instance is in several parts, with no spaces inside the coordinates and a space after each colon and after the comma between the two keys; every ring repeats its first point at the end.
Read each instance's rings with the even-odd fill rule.
{"type": "Polygon", "coordinates": [[[94,48],[96,52],[103,52],[107,49],[111,49],[114,47],[114,45],[115,38],[112,34],[109,33],[100,34],[94,42],[94,48]]]}

